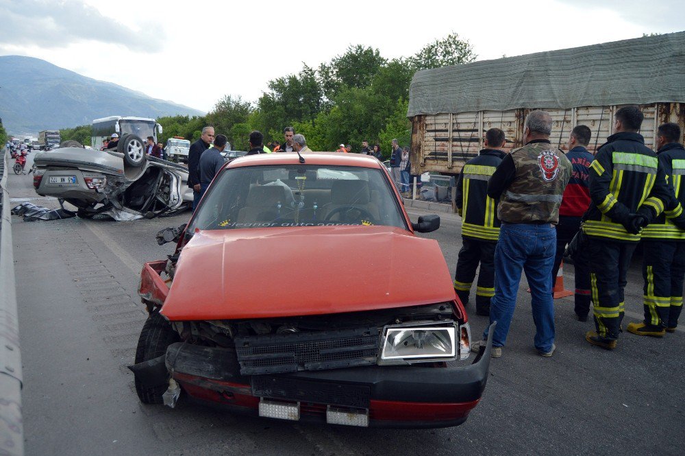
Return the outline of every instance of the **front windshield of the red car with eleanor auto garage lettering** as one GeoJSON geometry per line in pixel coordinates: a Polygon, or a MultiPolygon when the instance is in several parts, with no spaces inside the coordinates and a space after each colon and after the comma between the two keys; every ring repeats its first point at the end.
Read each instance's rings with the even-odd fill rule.
{"type": "Polygon", "coordinates": [[[225,169],[208,189],[188,232],[341,225],[407,228],[380,169],[322,165],[225,169]]]}

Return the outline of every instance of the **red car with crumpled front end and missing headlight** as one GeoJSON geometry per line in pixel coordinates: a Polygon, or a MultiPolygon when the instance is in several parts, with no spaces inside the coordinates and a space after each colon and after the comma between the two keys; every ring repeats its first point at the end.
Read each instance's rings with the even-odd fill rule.
{"type": "Polygon", "coordinates": [[[136,390],[255,416],[362,427],[466,420],[490,344],[387,171],[353,154],[246,156],[219,171],[169,260],[146,263],[136,390]]]}

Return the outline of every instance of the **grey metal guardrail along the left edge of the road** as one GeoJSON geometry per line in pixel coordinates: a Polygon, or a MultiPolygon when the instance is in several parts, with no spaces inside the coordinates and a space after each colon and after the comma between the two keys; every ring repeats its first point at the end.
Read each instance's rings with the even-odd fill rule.
{"type": "Polygon", "coordinates": [[[12,254],[12,216],[7,183],[11,169],[9,164],[10,154],[5,148],[0,160],[0,456],[23,456],[22,372],[12,254]]]}

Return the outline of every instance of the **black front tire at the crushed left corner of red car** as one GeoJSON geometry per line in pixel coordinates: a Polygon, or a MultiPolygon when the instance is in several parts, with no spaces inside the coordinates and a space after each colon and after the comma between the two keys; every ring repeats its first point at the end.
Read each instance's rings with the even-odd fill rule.
{"type": "MultiPolygon", "coordinates": [[[[173,331],[171,324],[164,320],[158,311],[151,313],[140,331],[136,348],[136,364],[164,355],[166,349],[179,340],[178,333],[173,331]]],[[[167,385],[147,387],[136,378],[136,394],[143,404],[161,404],[162,394],[167,387],[167,385]]]]}

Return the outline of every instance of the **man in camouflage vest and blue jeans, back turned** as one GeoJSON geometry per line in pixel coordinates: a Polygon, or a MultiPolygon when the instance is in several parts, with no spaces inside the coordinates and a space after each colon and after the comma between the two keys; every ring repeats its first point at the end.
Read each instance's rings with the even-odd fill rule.
{"type": "Polygon", "coordinates": [[[516,307],[516,296],[525,272],[530,285],[534,344],[543,357],[551,357],[554,344],[554,300],[549,277],[556,252],[559,206],[571,178],[571,162],[549,142],[552,119],[549,112],[533,111],[523,125],[525,146],[513,150],[488,182],[488,196],[499,199],[501,220],[495,250],[495,296],[490,302],[490,323],[497,322],[492,335],[486,328],[473,351],[493,337],[491,356],[499,358],[506,342],[516,307]]]}

